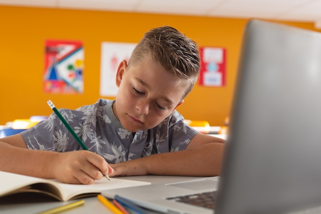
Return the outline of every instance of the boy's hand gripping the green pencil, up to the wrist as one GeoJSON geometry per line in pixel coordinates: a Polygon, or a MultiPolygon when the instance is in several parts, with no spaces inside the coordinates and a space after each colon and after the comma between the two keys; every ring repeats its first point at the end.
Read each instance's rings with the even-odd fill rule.
{"type": "Polygon", "coordinates": [[[51,167],[54,178],[69,184],[92,184],[114,171],[103,157],[87,150],[57,153],[51,167]]]}

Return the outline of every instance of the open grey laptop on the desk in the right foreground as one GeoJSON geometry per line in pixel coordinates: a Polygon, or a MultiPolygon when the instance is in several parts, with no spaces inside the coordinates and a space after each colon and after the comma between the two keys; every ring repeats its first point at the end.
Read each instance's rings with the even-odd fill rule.
{"type": "Polygon", "coordinates": [[[220,177],[104,196],[164,213],[321,213],[321,34],[250,20],[240,55],[220,177]],[[172,200],[202,191],[213,208],[172,200]]]}

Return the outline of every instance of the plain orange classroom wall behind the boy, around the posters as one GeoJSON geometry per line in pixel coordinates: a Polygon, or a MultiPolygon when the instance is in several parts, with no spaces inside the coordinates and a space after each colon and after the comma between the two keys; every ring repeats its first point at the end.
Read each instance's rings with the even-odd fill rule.
{"type": "MultiPolygon", "coordinates": [[[[178,107],[186,119],[224,125],[230,112],[246,22],[235,18],[0,6],[0,125],[31,115],[49,115],[49,99],[57,108],[71,109],[96,102],[100,97],[101,43],[138,43],[146,31],[163,25],[184,32],[199,46],[226,48],[226,86],[196,84],[178,107]],[[83,42],[84,93],[43,92],[44,45],[48,39],[83,42]]],[[[312,23],[286,24],[315,30],[312,23]]]]}

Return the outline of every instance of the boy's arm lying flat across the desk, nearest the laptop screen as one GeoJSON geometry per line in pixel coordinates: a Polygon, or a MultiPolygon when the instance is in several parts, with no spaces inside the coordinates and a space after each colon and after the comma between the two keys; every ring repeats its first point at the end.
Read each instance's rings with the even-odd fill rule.
{"type": "Polygon", "coordinates": [[[218,176],[222,164],[224,140],[198,133],[186,150],[153,154],[148,157],[110,164],[111,176],[145,174],[171,176],[218,176]]]}

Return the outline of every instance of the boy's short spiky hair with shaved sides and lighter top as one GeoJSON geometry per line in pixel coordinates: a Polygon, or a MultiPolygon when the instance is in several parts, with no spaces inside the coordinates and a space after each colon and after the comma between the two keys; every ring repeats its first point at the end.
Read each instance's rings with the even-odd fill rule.
{"type": "Polygon", "coordinates": [[[192,90],[200,69],[197,45],[173,27],[151,29],[132,52],[128,66],[146,59],[159,63],[168,72],[182,80],[186,88],[182,99],[192,90]]]}

